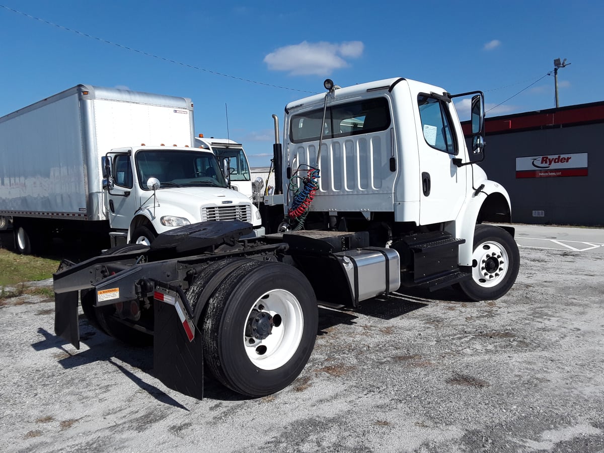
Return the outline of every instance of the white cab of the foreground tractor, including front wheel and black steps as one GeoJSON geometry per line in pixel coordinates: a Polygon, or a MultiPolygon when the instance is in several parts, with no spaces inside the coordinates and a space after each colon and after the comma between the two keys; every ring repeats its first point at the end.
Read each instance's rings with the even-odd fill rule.
{"type": "Polygon", "coordinates": [[[505,294],[518,272],[518,248],[511,226],[482,225],[511,220],[507,191],[477,165],[483,94],[451,95],[403,78],[347,88],[328,79],[326,88],[285,108],[283,194],[265,198],[284,204],[280,230],[367,231],[371,246],[399,251],[403,284],[463,287],[472,276],[477,288],[469,297],[505,294]],[[471,106],[471,149],[456,98],[471,106]],[[486,245],[505,255],[497,263],[481,252],[484,234],[501,237],[486,245]],[[451,255],[446,264],[442,254],[451,255]]]}

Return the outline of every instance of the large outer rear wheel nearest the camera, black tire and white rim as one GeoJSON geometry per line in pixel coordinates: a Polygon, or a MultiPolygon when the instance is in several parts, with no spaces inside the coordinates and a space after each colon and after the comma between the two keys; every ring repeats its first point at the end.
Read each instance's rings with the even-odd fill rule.
{"type": "Polygon", "coordinates": [[[217,381],[260,397],[287,387],[303,370],[315,345],[318,309],[297,269],[242,260],[222,279],[200,322],[205,362],[217,381]],[[252,326],[262,332],[257,339],[252,326]]]}

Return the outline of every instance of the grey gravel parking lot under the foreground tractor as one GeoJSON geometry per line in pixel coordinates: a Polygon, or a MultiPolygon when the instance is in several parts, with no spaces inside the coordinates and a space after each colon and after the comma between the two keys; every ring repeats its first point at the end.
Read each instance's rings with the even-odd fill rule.
{"type": "Polygon", "coordinates": [[[150,349],[52,299],[0,304],[0,451],[604,451],[604,230],[518,227],[521,269],[497,301],[413,291],[320,309],[293,385],[245,399],[166,388],[150,349]],[[541,229],[540,229],[541,228],[541,229]]]}

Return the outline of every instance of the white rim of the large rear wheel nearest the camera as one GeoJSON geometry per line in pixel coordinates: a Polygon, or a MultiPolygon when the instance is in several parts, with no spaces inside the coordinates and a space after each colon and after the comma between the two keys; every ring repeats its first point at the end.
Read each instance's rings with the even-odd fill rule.
{"type": "Polygon", "coordinates": [[[291,292],[274,289],[255,301],[246,316],[245,323],[243,347],[249,360],[262,370],[275,370],[286,364],[298,350],[304,330],[304,315],[300,301],[291,292]],[[280,321],[280,323],[275,322],[270,335],[264,339],[254,338],[253,334],[246,335],[246,326],[254,310],[280,321]]]}

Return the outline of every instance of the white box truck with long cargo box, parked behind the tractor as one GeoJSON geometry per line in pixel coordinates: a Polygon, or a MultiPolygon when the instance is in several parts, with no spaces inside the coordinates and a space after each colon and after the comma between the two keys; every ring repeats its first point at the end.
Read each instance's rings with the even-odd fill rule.
{"type": "Polygon", "coordinates": [[[150,243],[203,220],[263,234],[260,213],[193,136],[189,98],[89,85],[0,118],[0,216],[12,218],[16,250],[59,233],[150,243]]]}

